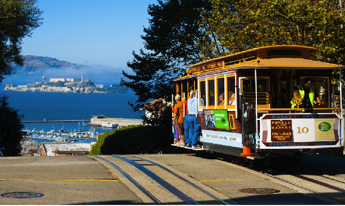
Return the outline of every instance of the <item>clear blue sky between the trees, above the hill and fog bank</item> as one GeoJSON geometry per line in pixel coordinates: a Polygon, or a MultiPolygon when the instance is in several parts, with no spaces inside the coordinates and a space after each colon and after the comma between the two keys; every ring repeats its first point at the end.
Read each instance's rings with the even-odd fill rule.
{"type": "Polygon", "coordinates": [[[22,41],[22,55],[126,70],[132,52],[144,49],[148,5],[157,0],[37,0],[43,24],[22,41]]]}

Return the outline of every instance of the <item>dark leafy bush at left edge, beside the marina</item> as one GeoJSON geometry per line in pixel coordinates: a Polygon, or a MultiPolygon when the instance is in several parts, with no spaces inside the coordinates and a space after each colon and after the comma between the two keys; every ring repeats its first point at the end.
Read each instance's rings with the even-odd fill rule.
{"type": "Polygon", "coordinates": [[[4,156],[17,156],[23,138],[23,115],[18,115],[18,110],[10,107],[7,100],[7,96],[0,96],[0,147],[5,147],[4,156]]]}

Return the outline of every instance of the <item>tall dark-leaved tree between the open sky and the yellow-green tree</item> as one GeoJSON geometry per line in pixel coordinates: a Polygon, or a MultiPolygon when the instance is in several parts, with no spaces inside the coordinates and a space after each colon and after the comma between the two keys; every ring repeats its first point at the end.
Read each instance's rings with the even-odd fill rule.
{"type": "Polygon", "coordinates": [[[144,28],[144,47],[148,52],[133,52],[127,66],[135,74],[123,71],[121,84],[132,89],[138,99],[129,104],[140,109],[148,100],[167,98],[173,93],[172,79],[186,66],[200,61],[198,38],[205,36],[199,27],[201,12],[208,0],[168,0],[149,5],[150,26],[144,28]]]}

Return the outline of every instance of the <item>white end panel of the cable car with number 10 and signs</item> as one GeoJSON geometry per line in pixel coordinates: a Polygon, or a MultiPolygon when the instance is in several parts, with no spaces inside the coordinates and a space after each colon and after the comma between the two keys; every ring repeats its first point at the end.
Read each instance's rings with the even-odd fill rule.
{"type": "Polygon", "coordinates": [[[339,144],[339,117],[334,113],[264,114],[260,148],[322,147],[339,144]]]}

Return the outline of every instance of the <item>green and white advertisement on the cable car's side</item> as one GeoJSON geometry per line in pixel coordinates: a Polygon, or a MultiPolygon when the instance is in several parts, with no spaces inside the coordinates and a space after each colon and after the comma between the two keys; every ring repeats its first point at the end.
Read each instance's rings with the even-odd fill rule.
{"type": "Polygon", "coordinates": [[[227,110],[204,110],[206,127],[230,129],[227,110]]]}

